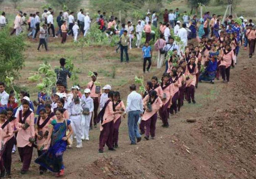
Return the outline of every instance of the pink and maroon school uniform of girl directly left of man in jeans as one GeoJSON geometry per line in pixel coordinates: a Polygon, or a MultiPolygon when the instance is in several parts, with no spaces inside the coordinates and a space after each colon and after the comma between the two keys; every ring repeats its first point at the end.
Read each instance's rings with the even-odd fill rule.
{"type": "MultiPolygon", "coordinates": [[[[113,111],[120,111],[121,108],[125,111],[125,105],[122,100],[118,100],[116,103],[113,102],[113,111]]],[[[113,145],[118,146],[118,135],[119,127],[121,124],[121,114],[114,114],[114,133],[113,133],[113,145]]]]}

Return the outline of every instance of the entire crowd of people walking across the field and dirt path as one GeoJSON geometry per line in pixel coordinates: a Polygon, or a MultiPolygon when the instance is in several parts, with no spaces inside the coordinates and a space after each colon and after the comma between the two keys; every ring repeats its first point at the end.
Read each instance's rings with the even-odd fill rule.
{"type": "MultiPolygon", "coordinates": [[[[151,14],[148,12],[145,18],[138,21],[136,28],[129,21],[127,25],[122,24],[121,29],[118,28],[120,21],[117,18],[111,17],[107,21],[106,13],[101,14],[98,11],[98,14],[99,18],[96,22],[102,32],[111,31],[120,35],[121,62],[123,51],[126,54],[126,61],[129,62],[128,47],[132,49],[131,42],[134,36],[136,36],[136,46],[140,48],[142,34],[145,33],[146,42],[142,48],[143,72],[150,71],[153,54],[150,46],[151,26],[157,26],[159,21],[156,12],[153,12],[151,20],[151,14]],[[105,27],[106,22],[110,23],[108,28],[105,27]],[[147,62],[149,64],[146,68],[147,62]]],[[[79,32],[86,36],[92,22],[89,13],[85,16],[82,9],[77,14],[77,21],[74,12],[60,12],[57,17],[59,30],[55,33],[53,15],[54,12],[49,8],[49,11],[44,11],[41,18],[39,12],[36,12],[25,21],[23,17],[26,17],[26,14],[20,12],[15,18],[14,31],[11,33],[16,31],[16,35],[19,35],[22,26],[27,23],[31,31],[28,36],[32,35],[32,38],[35,38],[39,32],[38,49],[43,44],[47,50],[45,41],[47,31],[50,34],[52,30],[55,38],[61,34],[64,43],[67,35],[70,34],[74,35],[74,40],[77,40],[79,32]],[[40,27],[41,22],[43,22],[42,27],[40,27]]],[[[4,16],[3,12],[0,17],[1,28],[5,25],[4,16]]],[[[163,23],[159,23],[160,36],[154,42],[154,49],[158,53],[159,71],[165,64],[163,75],[159,76],[160,78],[152,76],[147,80],[143,92],[136,92],[138,87],[132,84],[129,87],[130,94],[126,105],[121,99],[120,92],[113,91],[110,85],[105,85],[102,89],[97,85],[97,72],[93,72],[92,80],[84,90],[79,86],[72,86],[69,92],[67,76],[70,77],[72,74],[69,69],[65,69],[64,58],[60,59],[62,70],[55,71],[56,92],[51,95],[39,92],[37,101],[32,102],[29,94],[24,91],[20,92],[17,99],[14,92],[8,94],[5,91],[6,86],[1,82],[0,176],[11,175],[11,155],[15,153],[16,147],[23,164],[22,174],[28,172],[33,147],[36,147],[38,158],[35,162],[40,165],[40,174],[49,170],[55,172],[56,176],[63,176],[63,154],[66,148],[73,147],[74,139],[76,147],[82,148],[83,141],[89,140],[90,129],[97,126],[100,128],[99,153],[104,152],[105,145],[108,150],[115,151],[118,148],[121,118],[125,118],[126,115],[128,115],[131,145],[141,142],[142,135],[145,140],[149,140],[150,137],[154,139],[158,114],[163,122],[162,127],[168,128],[171,115],[180,112],[185,100],[189,104],[196,103],[195,89],[199,82],[214,83],[215,79],[220,80],[220,74],[224,83],[230,81],[230,69],[238,62],[241,43],[244,42],[245,49],[249,43],[249,57],[253,56],[256,30],[251,20],[247,24],[247,20],[240,17],[242,24],[239,24],[230,15],[225,18],[224,24],[220,24],[221,15],[216,18],[215,14],[210,16],[210,12],[206,12],[201,19],[197,19],[196,15],[191,18],[186,12],[182,19],[179,16],[178,8],[170,12],[165,10],[163,23]],[[177,42],[177,37],[181,43],[177,42]],[[198,44],[188,44],[188,39],[197,39],[198,44]]]]}

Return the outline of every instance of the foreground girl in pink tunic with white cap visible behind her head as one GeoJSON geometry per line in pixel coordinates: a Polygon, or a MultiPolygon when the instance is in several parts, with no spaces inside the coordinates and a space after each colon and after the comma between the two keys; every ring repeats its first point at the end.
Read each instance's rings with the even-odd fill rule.
{"type": "Polygon", "coordinates": [[[15,127],[19,130],[17,134],[17,147],[19,151],[19,157],[23,163],[21,174],[28,172],[33,147],[32,142],[35,140],[35,128],[34,128],[34,113],[29,110],[29,101],[22,100],[23,110],[18,111],[17,121],[15,127]]]}

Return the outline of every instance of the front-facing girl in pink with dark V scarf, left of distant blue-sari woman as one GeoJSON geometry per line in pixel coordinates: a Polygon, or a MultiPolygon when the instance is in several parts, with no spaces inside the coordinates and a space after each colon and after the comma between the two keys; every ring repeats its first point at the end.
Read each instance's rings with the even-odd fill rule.
{"type": "Polygon", "coordinates": [[[192,57],[190,59],[190,62],[186,66],[185,76],[186,78],[189,77],[188,80],[186,80],[186,100],[188,103],[192,102],[195,104],[195,85],[196,85],[196,74],[198,73],[198,67],[195,64],[195,57],[192,57]]]}

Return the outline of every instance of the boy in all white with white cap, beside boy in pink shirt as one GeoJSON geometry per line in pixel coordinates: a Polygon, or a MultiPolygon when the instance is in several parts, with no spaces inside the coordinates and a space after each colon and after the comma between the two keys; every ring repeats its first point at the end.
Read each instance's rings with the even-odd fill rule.
{"type": "Polygon", "coordinates": [[[84,90],[82,96],[82,140],[89,140],[89,128],[90,128],[90,120],[92,118],[92,112],[94,110],[93,99],[90,97],[90,89],[84,90]]]}

